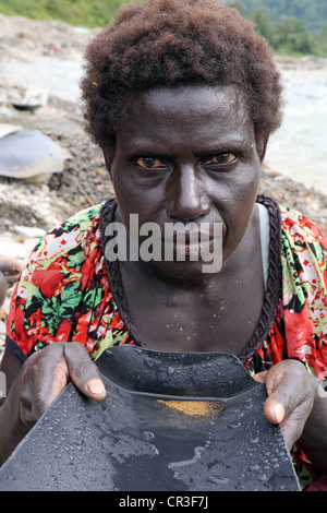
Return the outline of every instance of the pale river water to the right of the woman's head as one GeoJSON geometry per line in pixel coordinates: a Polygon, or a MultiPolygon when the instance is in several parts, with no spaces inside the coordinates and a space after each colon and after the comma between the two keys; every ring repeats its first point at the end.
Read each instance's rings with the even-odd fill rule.
{"type": "Polygon", "coordinates": [[[272,135],[266,164],[327,193],[327,68],[282,72],[286,110],[272,135]]]}

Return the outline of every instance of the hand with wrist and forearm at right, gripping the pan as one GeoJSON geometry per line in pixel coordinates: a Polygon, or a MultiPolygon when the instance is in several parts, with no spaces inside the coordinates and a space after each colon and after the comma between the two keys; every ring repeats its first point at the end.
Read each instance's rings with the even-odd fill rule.
{"type": "Polygon", "coordinates": [[[266,384],[265,416],[280,423],[289,450],[299,441],[312,463],[326,473],[327,397],[319,380],[296,360],[280,361],[254,379],[266,384]]]}

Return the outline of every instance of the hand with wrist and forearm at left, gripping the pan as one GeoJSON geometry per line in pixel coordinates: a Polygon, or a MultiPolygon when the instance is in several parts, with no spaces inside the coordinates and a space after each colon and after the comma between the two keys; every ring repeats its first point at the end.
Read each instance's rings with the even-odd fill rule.
{"type": "Polygon", "coordinates": [[[27,358],[0,407],[0,465],[70,381],[93,399],[106,396],[98,369],[80,343],[57,342],[27,358]]]}

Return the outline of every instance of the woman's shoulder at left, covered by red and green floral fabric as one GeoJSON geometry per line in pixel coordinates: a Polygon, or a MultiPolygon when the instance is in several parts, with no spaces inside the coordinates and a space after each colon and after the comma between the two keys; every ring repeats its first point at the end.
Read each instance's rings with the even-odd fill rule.
{"type": "Polygon", "coordinates": [[[7,347],[20,361],[45,344],[73,339],[74,330],[76,339],[94,347],[87,338],[88,321],[95,319],[93,310],[100,314],[102,287],[109,287],[100,211],[101,205],[95,205],[55,226],[32,252],[7,320],[7,347]]]}

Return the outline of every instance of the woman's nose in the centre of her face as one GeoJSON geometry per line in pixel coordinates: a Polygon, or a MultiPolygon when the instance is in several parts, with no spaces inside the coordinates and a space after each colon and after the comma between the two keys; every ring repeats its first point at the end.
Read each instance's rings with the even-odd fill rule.
{"type": "Polygon", "coordinates": [[[174,171],[167,186],[167,215],[183,220],[208,215],[210,200],[205,177],[193,166],[181,166],[174,171]]]}

